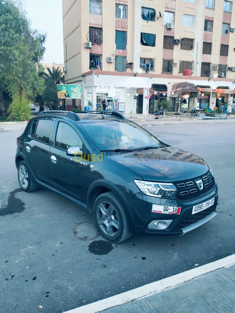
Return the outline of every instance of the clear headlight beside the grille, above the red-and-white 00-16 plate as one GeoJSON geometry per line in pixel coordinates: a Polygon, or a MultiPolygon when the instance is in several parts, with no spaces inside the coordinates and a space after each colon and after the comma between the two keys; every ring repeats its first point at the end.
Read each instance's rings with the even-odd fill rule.
{"type": "Polygon", "coordinates": [[[164,182],[146,182],[134,179],[135,184],[140,190],[152,197],[175,199],[177,189],[173,184],[164,182]]]}

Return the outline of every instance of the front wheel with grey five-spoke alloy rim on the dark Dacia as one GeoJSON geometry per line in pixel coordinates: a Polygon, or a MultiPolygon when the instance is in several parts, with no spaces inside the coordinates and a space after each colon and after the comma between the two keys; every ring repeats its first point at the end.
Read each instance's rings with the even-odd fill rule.
{"type": "Polygon", "coordinates": [[[122,242],[132,235],[125,209],[113,192],[102,193],[96,198],[93,216],[101,235],[112,243],[122,242]]]}

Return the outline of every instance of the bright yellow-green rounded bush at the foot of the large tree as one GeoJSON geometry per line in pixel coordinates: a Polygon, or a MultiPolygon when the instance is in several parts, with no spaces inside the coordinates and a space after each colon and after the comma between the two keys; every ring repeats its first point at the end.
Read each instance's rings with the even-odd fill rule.
{"type": "Polygon", "coordinates": [[[16,121],[26,121],[31,117],[31,111],[29,107],[29,101],[25,95],[13,95],[13,101],[8,108],[8,113],[10,116],[7,118],[12,120],[13,118],[16,121]]]}

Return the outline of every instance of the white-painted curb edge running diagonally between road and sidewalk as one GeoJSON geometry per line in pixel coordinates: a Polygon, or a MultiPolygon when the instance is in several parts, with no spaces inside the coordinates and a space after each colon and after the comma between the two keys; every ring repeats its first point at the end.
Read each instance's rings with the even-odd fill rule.
{"type": "MultiPolygon", "coordinates": [[[[176,274],[159,281],[144,285],[142,287],[123,292],[119,295],[112,296],[100,301],[96,301],[76,309],[66,311],[65,313],[96,313],[103,310],[122,305],[135,300],[140,300],[144,297],[149,297],[156,293],[165,290],[173,289],[179,285],[186,284],[203,275],[217,271],[225,267],[230,267],[235,264],[235,254],[226,258],[202,265],[200,267],[190,269],[180,274],[176,274]]],[[[121,312],[121,310],[120,310],[121,312]]]]}

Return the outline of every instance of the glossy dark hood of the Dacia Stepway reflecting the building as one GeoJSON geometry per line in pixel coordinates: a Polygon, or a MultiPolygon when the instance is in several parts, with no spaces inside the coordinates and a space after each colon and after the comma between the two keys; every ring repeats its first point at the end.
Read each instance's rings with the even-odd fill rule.
{"type": "Polygon", "coordinates": [[[172,146],[131,153],[115,153],[107,157],[136,172],[143,180],[155,182],[192,179],[209,170],[203,159],[172,146]]]}

